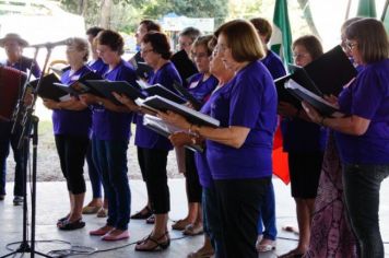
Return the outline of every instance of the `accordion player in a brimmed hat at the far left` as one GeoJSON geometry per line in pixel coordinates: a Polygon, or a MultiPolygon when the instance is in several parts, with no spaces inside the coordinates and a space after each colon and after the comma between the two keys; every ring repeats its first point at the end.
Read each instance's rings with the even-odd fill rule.
{"type": "MultiPolygon", "coordinates": [[[[14,33],[9,33],[5,35],[5,37],[0,38],[0,47],[3,47],[5,49],[5,54],[8,57],[7,61],[4,62],[4,66],[11,67],[13,69],[20,70],[23,72],[27,72],[27,70],[31,70],[35,78],[39,78],[42,72],[40,72],[40,69],[39,69],[38,64],[36,63],[36,61],[34,61],[31,58],[22,56],[23,48],[26,46],[28,46],[28,43],[26,40],[24,40],[23,38],[21,38],[17,34],[14,34],[14,33]]],[[[19,97],[21,97],[21,94],[23,92],[23,90],[22,90],[23,85],[24,85],[23,81],[24,80],[19,80],[19,83],[15,84],[15,87],[17,87],[19,97]]],[[[0,93],[0,94],[3,94],[3,93],[0,93]]],[[[8,131],[11,128],[11,126],[10,126],[11,124],[12,124],[11,121],[3,120],[0,124],[0,129],[3,132],[8,131]]],[[[17,149],[17,143],[19,143],[19,138],[20,138],[21,131],[22,131],[22,127],[16,126],[15,132],[13,134],[2,133],[2,138],[9,138],[9,141],[7,141],[7,139],[2,139],[2,141],[1,141],[4,144],[7,142],[11,143],[11,146],[13,150],[13,157],[16,163],[15,184],[14,184],[14,188],[13,188],[13,195],[14,195],[13,204],[15,204],[15,206],[20,206],[23,203],[23,173],[26,171],[26,159],[23,156],[23,153],[17,149]]],[[[7,150],[7,148],[9,148],[9,145],[5,146],[4,144],[1,144],[3,146],[2,149],[7,150]]],[[[1,154],[0,160],[5,162],[8,152],[1,151],[0,154],[1,154]]],[[[4,178],[5,177],[5,165],[2,165],[2,167],[0,167],[0,169],[1,169],[0,174],[2,175],[1,177],[4,178]]],[[[3,188],[3,187],[4,186],[0,186],[0,188],[3,188]]],[[[2,189],[1,191],[2,192],[0,192],[0,200],[3,199],[4,195],[5,195],[4,189],[2,189]]]]}

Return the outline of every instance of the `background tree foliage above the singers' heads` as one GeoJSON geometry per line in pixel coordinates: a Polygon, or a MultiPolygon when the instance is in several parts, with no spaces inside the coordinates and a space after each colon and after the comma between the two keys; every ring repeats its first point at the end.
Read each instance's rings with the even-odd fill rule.
{"type": "Polygon", "coordinates": [[[189,17],[214,17],[215,26],[222,24],[228,14],[223,0],[60,0],[62,7],[72,13],[83,15],[87,26],[103,25],[119,31],[129,31],[142,19],[162,19],[167,13],[189,17]],[[110,2],[109,24],[105,23],[107,1],[110,2]],[[102,8],[105,9],[102,9],[102,8]]]}

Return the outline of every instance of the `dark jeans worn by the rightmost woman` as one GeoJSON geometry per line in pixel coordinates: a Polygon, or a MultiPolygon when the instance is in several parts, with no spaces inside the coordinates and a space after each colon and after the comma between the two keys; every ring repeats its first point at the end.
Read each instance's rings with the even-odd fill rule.
{"type": "Polygon", "coordinates": [[[351,227],[361,258],[384,258],[379,231],[379,189],[389,165],[343,164],[343,187],[351,227]]]}

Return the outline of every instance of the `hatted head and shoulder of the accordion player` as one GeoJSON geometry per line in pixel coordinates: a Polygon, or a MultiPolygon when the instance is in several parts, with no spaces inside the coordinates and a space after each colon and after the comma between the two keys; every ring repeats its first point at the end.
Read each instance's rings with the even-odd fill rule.
{"type": "Polygon", "coordinates": [[[23,72],[31,69],[34,77],[39,78],[42,72],[38,63],[31,58],[22,56],[23,48],[27,46],[28,43],[15,33],[9,33],[5,37],[0,38],[0,47],[5,49],[8,57],[4,66],[12,67],[23,72]]]}

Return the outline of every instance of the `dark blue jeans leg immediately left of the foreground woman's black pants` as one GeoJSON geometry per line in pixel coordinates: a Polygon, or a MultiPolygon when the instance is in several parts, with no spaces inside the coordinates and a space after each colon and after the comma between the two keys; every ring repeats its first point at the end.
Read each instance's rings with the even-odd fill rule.
{"type": "Polygon", "coordinates": [[[202,188],[202,220],[205,234],[210,237],[216,258],[223,258],[224,242],[222,220],[219,215],[217,196],[214,186],[202,188]]]}

